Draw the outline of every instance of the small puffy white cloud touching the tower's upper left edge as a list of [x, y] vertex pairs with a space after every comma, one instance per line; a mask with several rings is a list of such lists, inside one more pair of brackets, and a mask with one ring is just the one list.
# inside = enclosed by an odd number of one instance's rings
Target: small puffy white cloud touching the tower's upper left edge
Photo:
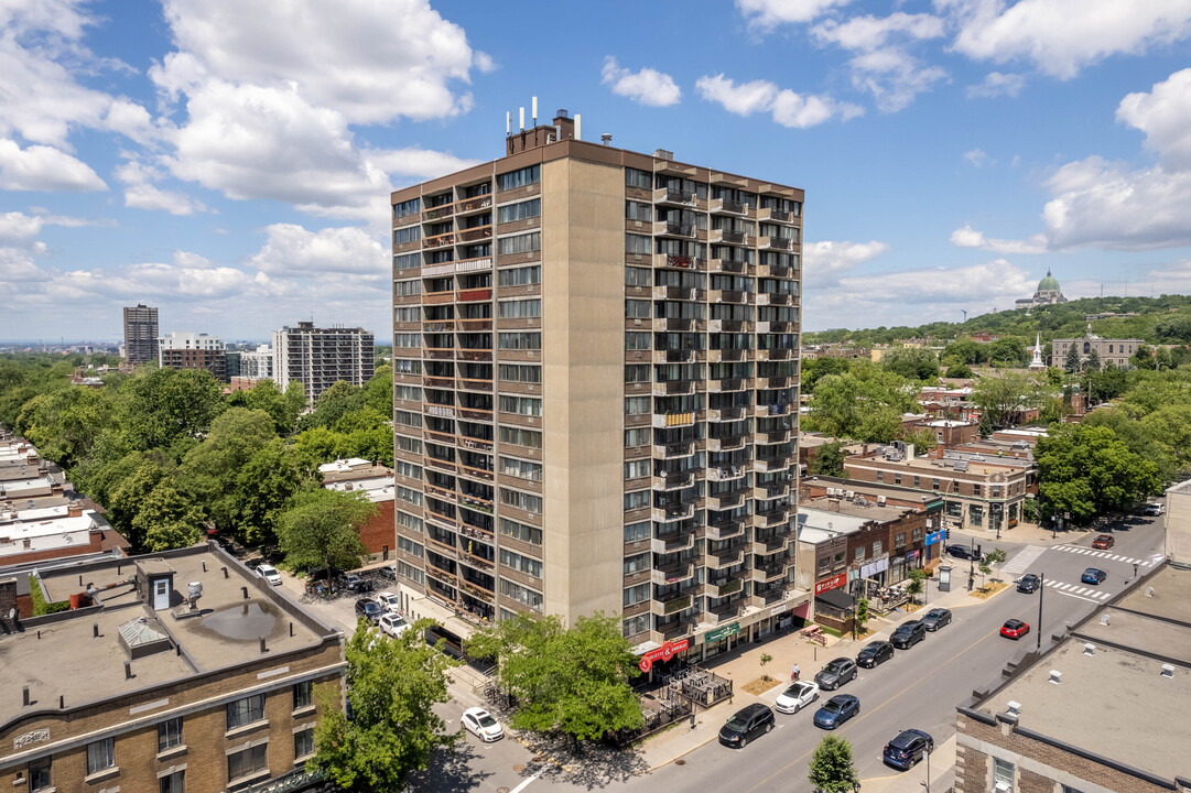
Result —
[[385, 274], [388, 258], [384, 248], [364, 231], [354, 227], [307, 231], [303, 226], [278, 223], [266, 231], [269, 239], [252, 256], [251, 264], [273, 275], [349, 273]]

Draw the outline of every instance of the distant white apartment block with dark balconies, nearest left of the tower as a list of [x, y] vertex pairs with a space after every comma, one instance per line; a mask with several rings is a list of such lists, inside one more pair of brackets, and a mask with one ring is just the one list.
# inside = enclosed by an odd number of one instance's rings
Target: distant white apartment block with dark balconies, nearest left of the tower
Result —
[[285, 389], [297, 380], [314, 401], [342, 380], [362, 386], [373, 376], [373, 335], [362, 327], [286, 325], [273, 333], [273, 379]]

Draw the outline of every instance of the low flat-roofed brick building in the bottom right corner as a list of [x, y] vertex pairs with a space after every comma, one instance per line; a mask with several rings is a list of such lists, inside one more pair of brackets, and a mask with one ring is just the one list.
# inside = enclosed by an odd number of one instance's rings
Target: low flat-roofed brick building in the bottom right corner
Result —
[[1161, 567], [958, 708], [955, 792], [1191, 789], [1187, 701], [1191, 572]]

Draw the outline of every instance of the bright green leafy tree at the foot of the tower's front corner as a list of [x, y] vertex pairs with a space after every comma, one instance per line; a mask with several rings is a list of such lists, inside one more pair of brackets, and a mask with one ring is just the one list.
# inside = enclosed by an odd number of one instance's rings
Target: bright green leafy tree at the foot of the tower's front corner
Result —
[[629, 687], [637, 658], [615, 617], [580, 617], [568, 630], [555, 614], [517, 614], [475, 633], [467, 650], [499, 660], [497, 679], [518, 701], [510, 720], [518, 730], [587, 741], [643, 723]]

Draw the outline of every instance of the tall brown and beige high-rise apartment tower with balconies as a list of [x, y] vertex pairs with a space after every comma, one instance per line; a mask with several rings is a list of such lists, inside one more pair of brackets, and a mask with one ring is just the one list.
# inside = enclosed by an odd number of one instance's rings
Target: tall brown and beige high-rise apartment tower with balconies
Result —
[[399, 582], [701, 657], [809, 608], [803, 191], [579, 137], [392, 194]]

